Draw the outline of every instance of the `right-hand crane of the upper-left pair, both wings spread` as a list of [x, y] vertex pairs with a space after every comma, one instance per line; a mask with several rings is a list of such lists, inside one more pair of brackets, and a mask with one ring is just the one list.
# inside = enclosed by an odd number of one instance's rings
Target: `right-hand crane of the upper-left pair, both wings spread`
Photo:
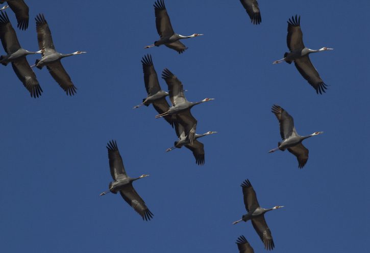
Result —
[[67, 93], [67, 95], [75, 95], [77, 88], [73, 85], [68, 73], [65, 71], [60, 60], [71, 55], [86, 53], [84, 51], [76, 51], [73, 53], [62, 54], [55, 50], [52, 33], [50, 32], [49, 25], [47, 24], [43, 14], [37, 15], [36, 31], [39, 49], [41, 50], [41, 60], [36, 60], [38, 69], [43, 66], [49, 70], [52, 77], [59, 83], [59, 86]]

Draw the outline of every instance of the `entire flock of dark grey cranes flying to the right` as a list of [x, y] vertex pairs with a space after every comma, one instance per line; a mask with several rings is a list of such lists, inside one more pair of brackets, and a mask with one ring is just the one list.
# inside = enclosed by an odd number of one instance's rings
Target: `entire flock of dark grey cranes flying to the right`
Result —
[[[8, 0], [0, 1], [0, 4], [7, 2], [8, 5], [0, 9], [0, 39], [2, 41], [6, 55], [1, 55], [0, 63], [7, 66], [11, 63], [14, 72], [24, 87], [30, 92], [31, 97], [39, 97], [42, 89], [37, 81], [36, 75], [32, 70], [33, 67], [42, 69], [46, 66], [52, 77], [58, 82], [60, 87], [67, 95], [74, 95], [76, 87], [73, 85], [69, 75], [61, 64], [61, 59], [71, 55], [86, 53], [84, 51], [76, 51], [69, 54], [61, 54], [56, 51], [50, 28], [46, 22], [43, 14], [37, 15], [36, 32], [39, 45], [39, 51], [28, 51], [23, 49], [17, 39], [15, 30], [10, 23], [8, 14], [5, 10], [10, 9], [15, 13], [17, 19], [17, 27], [20, 30], [27, 30], [29, 25], [29, 8], [23, 0]], [[253, 24], [260, 24], [261, 14], [256, 0], [240, 0], [242, 6], [251, 18]], [[154, 4], [157, 32], [160, 36], [159, 40], [154, 44], [145, 46], [144, 48], [151, 48], [154, 46], [165, 45], [178, 53], [183, 53], [187, 47], [180, 42], [180, 40], [202, 36], [203, 34], [192, 34], [190, 36], [183, 36], [174, 32], [171, 22], [164, 5], [163, 0], [157, 0]], [[316, 90], [316, 93], [323, 94], [326, 92], [327, 85], [320, 78], [317, 70], [312, 65], [309, 54], [314, 52], [321, 52], [332, 50], [332, 48], [323, 47], [317, 50], [305, 47], [303, 43], [303, 34], [300, 25], [300, 16], [292, 16], [288, 20], [288, 34], [287, 46], [289, 52], [284, 54], [284, 58], [275, 61], [273, 64], [286, 62], [291, 64], [294, 62], [295, 67], [301, 75], [308, 81], [308, 83]], [[30, 66], [26, 57], [28, 54], [41, 53], [41, 59], [36, 60], [35, 64]], [[156, 118], [164, 118], [172, 128], [175, 128], [178, 139], [173, 147], [166, 151], [171, 151], [176, 148], [185, 146], [192, 151], [196, 164], [203, 165], [205, 162], [204, 145], [198, 139], [200, 137], [216, 133], [209, 131], [204, 134], [196, 133], [196, 125], [198, 121], [192, 116], [191, 108], [197, 104], [208, 102], [213, 98], [205, 98], [198, 102], [189, 102], [184, 95], [186, 90], [183, 89], [181, 81], [170, 70], [164, 69], [162, 78], [167, 83], [168, 92], [161, 89], [157, 72], [153, 65], [153, 59], [150, 54], [144, 55], [141, 60], [144, 84], [146, 88], [147, 97], [142, 100], [142, 103], [136, 105], [138, 108], [142, 105], [149, 106], [150, 104], [157, 110]], [[171, 106], [166, 100], [169, 97]], [[280, 134], [282, 141], [278, 143], [278, 147], [269, 151], [269, 153], [277, 150], [285, 151], [286, 149], [297, 157], [299, 168], [303, 168], [308, 160], [308, 149], [302, 144], [302, 141], [311, 136], [318, 135], [323, 132], [314, 132], [310, 135], [301, 136], [297, 133], [294, 127], [293, 118], [279, 105], [273, 105], [272, 112], [277, 117], [280, 124]], [[113, 181], [109, 183], [107, 191], [101, 193], [105, 195], [109, 192], [116, 194], [120, 193], [122, 198], [134, 208], [136, 212], [145, 220], [153, 218], [153, 213], [147, 208], [145, 202], [133, 187], [135, 180], [145, 178], [149, 175], [141, 175], [137, 178], [131, 178], [126, 174], [122, 158], [118, 151], [118, 146], [115, 140], [111, 140], [107, 144], [110, 173]], [[236, 224], [240, 221], [251, 220], [254, 229], [260, 236], [264, 243], [265, 249], [272, 250], [275, 245], [270, 229], [264, 218], [264, 214], [271, 210], [282, 208], [283, 206], [275, 206], [273, 208], [265, 209], [260, 207], [256, 192], [249, 180], [245, 180], [242, 184], [242, 193], [246, 214], [241, 219], [235, 221]], [[237, 241], [239, 252], [251, 253], [254, 252], [251, 245], [244, 236], [240, 236]]]

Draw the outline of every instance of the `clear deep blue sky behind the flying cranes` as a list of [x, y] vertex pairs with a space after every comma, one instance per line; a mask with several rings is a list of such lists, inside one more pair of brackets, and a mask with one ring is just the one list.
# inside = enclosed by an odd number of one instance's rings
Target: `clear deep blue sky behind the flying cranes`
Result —
[[[34, 18], [43, 13], [78, 88], [66, 96], [46, 69], [35, 69], [43, 89], [31, 98], [12, 67], [0, 66], [0, 251], [16, 252], [237, 252], [244, 235], [255, 252], [263, 244], [246, 213], [240, 184], [250, 179], [275, 242], [274, 252], [365, 252], [370, 201], [370, 3], [260, 0], [262, 23], [251, 24], [238, 0], [166, 0], [175, 32], [203, 33], [184, 40], [178, 54], [158, 39], [154, 0], [26, 1], [23, 48], [38, 50]], [[7, 13], [14, 27], [13, 12]], [[287, 20], [301, 15], [304, 43], [333, 51], [311, 61], [329, 85], [317, 95], [294, 65], [272, 62], [286, 52]], [[146, 97], [140, 60], [151, 53], [158, 75], [168, 68], [195, 106], [205, 165], [186, 148], [166, 153], [175, 131], [155, 119]], [[1, 49], [1, 54], [4, 54]], [[34, 64], [39, 55], [30, 55]], [[163, 79], [160, 84], [167, 86]], [[305, 140], [306, 166], [285, 152], [270, 112], [279, 104], [294, 117]], [[145, 222], [108, 189], [106, 144], [116, 139], [134, 187], [154, 218]]]

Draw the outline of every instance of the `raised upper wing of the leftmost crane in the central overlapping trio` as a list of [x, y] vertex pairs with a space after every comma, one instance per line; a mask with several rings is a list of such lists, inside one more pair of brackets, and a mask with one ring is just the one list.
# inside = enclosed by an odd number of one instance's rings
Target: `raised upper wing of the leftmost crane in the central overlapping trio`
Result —
[[144, 55], [141, 63], [146, 93], [149, 96], [154, 95], [161, 90], [161, 87], [159, 86], [157, 72], [153, 66], [152, 55]]

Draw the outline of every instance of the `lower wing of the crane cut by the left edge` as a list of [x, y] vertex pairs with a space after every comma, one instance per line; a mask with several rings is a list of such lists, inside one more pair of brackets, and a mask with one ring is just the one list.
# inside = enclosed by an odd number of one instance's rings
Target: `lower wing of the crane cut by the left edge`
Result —
[[24, 87], [30, 92], [31, 97], [36, 98], [41, 96], [42, 89], [26, 57], [13, 61], [12, 67]]

